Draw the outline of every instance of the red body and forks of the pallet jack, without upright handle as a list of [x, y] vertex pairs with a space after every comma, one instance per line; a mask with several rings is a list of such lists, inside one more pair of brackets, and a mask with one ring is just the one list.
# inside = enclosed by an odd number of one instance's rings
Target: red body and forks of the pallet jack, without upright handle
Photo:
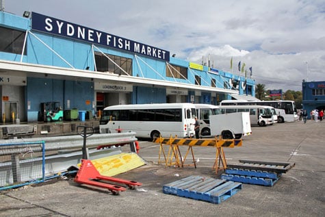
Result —
[[120, 192], [124, 192], [125, 190], [127, 190], [122, 186], [117, 186], [112, 183], [104, 183], [102, 181], [110, 181], [114, 183], [124, 184], [130, 189], [135, 189], [136, 186], [142, 186], [142, 183], [138, 181], [129, 181], [125, 179], [103, 176], [99, 173], [98, 170], [96, 170], [94, 164], [92, 164], [90, 159], [81, 159], [81, 166], [75, 177], [75, 182], [88, 186], [107, 188], [107, 190], [110, 190], [114, 195], [118, 195], [120, 194]]

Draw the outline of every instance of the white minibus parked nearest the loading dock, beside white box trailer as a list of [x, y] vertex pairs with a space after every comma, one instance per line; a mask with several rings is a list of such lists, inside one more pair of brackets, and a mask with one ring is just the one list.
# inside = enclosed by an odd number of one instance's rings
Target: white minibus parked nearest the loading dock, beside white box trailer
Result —
[[135, 131], [140, 138], [187, 138], [195, 135], [195, 116], [192, 103], [112, 105], [103, 110], [99, 131]]

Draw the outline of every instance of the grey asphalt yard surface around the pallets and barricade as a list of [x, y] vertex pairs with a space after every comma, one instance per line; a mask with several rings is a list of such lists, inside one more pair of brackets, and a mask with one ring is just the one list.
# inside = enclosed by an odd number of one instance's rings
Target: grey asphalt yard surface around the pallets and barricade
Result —
[[[69, 177], [0, 192], [0, 216], [324, 216], [325, 121], [252, 127], [242, 146], [224, 148], [229, 164], [239, 159], [294, 163], [272, 187], [243, 184], [220, 204], [164, 194], [162, 187], [190, 175], [220, 179], [216, 148], [194, 147], [194, 166], [158, 164], [159, 145], [140, 141], [148, 164], [117, 177], [142, 186], [119, 195], [80, 186]], [[124, 147], [125, 151], [127, 147]], [[181, 146], [181, 153], [187, 147]], [[185, 164], [192, 164], [188, 157]]]

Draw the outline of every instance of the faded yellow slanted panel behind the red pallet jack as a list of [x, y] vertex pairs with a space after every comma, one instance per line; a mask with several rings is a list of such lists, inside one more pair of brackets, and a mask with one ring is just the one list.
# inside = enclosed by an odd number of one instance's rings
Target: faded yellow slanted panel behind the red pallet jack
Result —
[[109, 157], [92, 159], [92, 164], [101, 175], [112, 177], [146, 164], [136, 153], [120, 153]]

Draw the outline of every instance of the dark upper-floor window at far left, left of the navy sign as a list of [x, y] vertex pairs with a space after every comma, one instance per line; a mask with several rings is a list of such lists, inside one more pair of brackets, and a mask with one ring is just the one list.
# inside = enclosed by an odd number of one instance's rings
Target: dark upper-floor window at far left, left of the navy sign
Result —
[[[25, 34], [25, 31], [0, 27], [0, 51], [21, 54], [23, 52]], [[27, 46], [25, 46], [24, 55], [26, 55], [26, 51]]]

